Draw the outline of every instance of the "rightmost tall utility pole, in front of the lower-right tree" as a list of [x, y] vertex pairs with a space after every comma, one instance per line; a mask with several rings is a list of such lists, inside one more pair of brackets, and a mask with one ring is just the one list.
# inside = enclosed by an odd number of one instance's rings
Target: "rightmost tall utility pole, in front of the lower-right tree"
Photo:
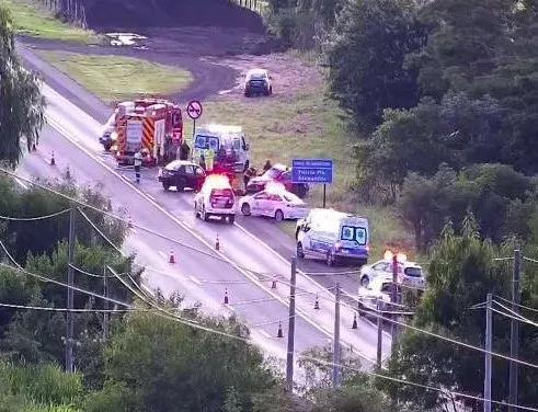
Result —
[[[519, 313], [519, 301], [522, 300], [522, 290], [519, 282], [522, 277], [522, 252], [516, 249], [514, 251], [514, 273], [512, 278], [512, 310]], [[510, 324], [510, 357], [517, 359], [519, 350], [519, 322], [512, 318]], [[514, 360], [510, 362], [510, 393], [508, 403], [517, 404], [517, 375], [518, 367]], [[517, 408], [508, 407], [508, 412], [516, 412]]]

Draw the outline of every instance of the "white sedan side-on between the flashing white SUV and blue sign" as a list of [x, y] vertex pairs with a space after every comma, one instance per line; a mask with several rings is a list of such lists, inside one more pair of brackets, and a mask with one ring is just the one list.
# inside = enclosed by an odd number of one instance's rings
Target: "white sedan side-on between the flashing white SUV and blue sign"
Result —
[[244, 196], [240, 202], [244, 216], [268, 216], [278, 221], [285, 219], [302, 219], [307, 213], [307, 204], [287, 191], [262, 191]]

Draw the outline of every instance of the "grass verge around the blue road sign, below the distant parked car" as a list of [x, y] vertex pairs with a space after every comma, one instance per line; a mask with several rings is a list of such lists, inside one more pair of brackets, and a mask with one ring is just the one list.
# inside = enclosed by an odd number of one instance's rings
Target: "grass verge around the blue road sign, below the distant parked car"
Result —
[[[294, 158], [333, 159], [334, 184], [327, 187], [327, 206], [368, 218], [373, 260], [380, 259], [387, 248], [414, 255], [412, 233], [403, 228], [397, 214], [387, 207], [362, 205], [350, 190], [355, 180], [353, 136], [347, 131], [342, 112], [323, 93], [312, 90], [290, 99], [238, 99], [232, 104], [208, 102], [204, 106], [203, 123], [206, 122], [242, 126], [255, 165], [262, 165], [265, 159], [286, 164]], [[321, 206], [322, 193], [322, 186], [311, 187], [309, 203]], [[279, 226], [294, 237], [295, 222]]]

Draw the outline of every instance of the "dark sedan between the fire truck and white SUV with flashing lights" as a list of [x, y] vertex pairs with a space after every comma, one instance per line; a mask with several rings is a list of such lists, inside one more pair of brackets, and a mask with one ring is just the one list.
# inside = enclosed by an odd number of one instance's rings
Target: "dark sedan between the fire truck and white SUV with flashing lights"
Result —
[[160, 169], [158, 176], [165, 191], [175, 186], [178, 192], [182, 192], [184, 188], [199, 191], [205, 178], [204, 169], [187, 160], [174, 160]]

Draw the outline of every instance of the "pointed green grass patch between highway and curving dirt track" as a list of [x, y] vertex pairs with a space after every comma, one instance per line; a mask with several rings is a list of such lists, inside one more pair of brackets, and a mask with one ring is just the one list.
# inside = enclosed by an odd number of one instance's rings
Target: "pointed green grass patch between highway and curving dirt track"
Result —
[[131, 57], [36, 53], [107, 104], [148, 94], [173, 94], [193, 80], [184, 69]]

